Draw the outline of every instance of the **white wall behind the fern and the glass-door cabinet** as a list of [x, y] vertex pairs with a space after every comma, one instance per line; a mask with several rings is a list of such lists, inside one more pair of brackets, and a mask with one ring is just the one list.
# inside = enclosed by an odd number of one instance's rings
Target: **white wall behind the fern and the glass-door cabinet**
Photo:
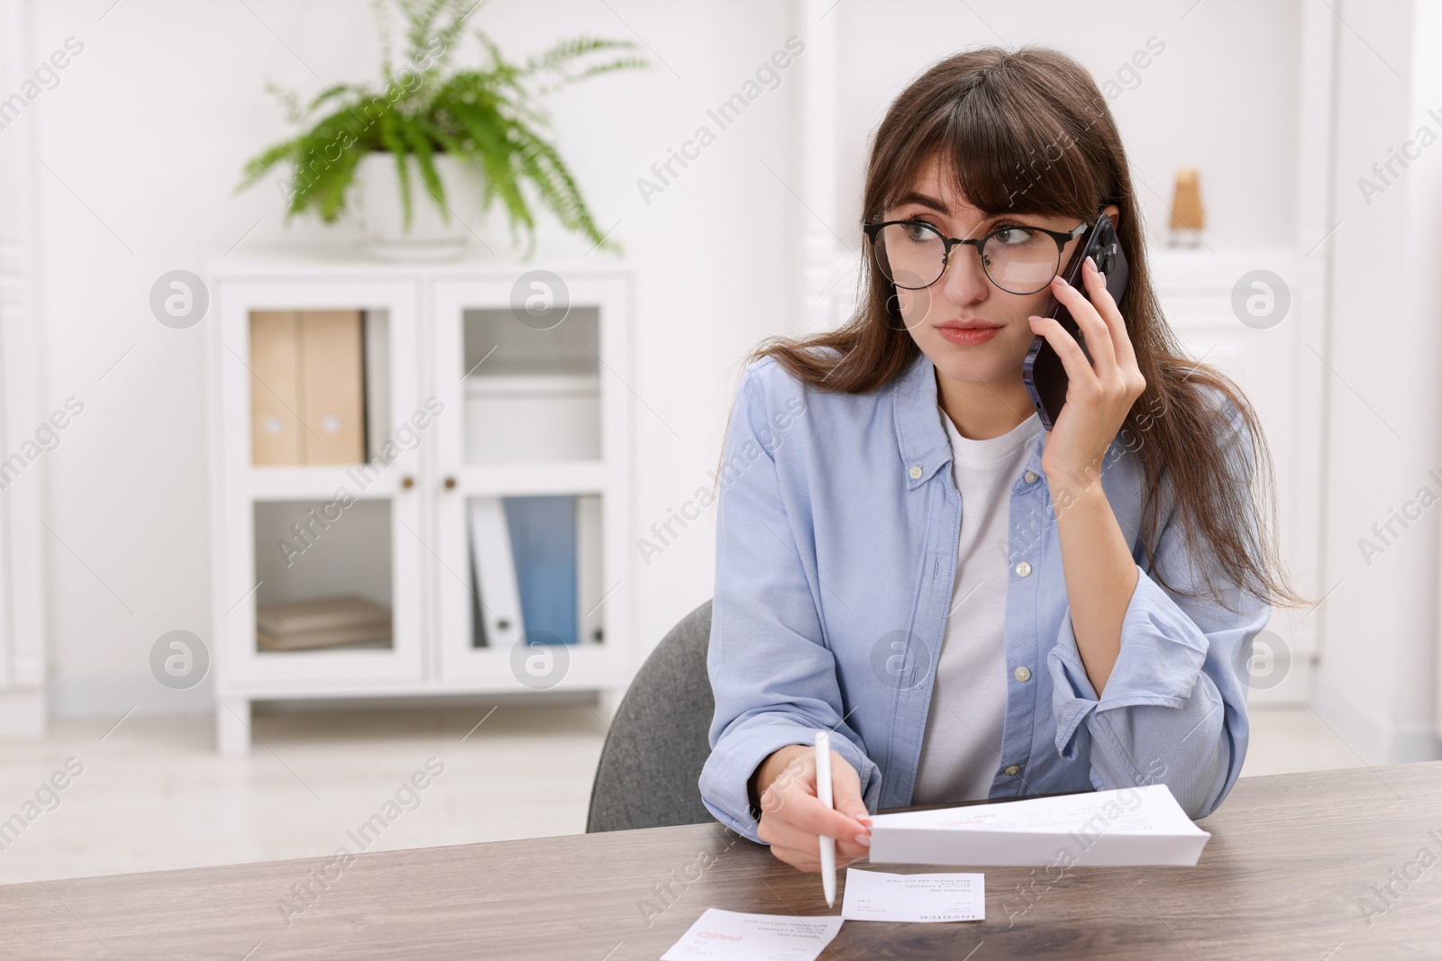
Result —
[[[278, 192], [264, 184], [239, 196], [232, 187], [241, 161], [287, 133], [264, 81], [303, 94], [365, 81], [378, 49], [369, 4], [358, 0], [254, 0], [254, 14], [232, 3], [107, 6], [33, 4], [36, 63], [69, 36], [85, 48], [20, 121], [35, 125], [39, 160], [53, 170], [39, 174], [43, 406], [71, 395], [87, 405], [45, 461], [56, 535], [45, 558], [52, 690], [62, 713], [144, 707], [154, 638], [174, 628], [203, 637], [208, 624], [203, 330], [156, 323], [149, 287], [169, 269], [202, 271], [252, 226], [245, 246], [349, 241], [310, 222], [287, 228]], [[789, 79], [650, 205], [636, 179], [792, 27], [787, 7], [771, 3], [712, 3], [684, 17], [663, 4], [616, 9], [624, 22], [584, 1], [549, 3], [538, 17], [535, 4], [497, 0], [477, 16], [516, 56], [559, 36], [633, 36], [627, 24], [659, 55], [646, 73], [601, 78], [552, 102], [562, 154], [597, 219], [622, 222], [616, 236], [637, 269], [632, 386], [665, 418], [645, 408], [637, 416], [645, 529], [707, 483], [735, 362], [787, 326], [795, 213], [760, 158], [790, 176]], [[711, 552], [709, 533], [692, 527], [643, 571], [645, 637], [659, 638], [709, 596]]]

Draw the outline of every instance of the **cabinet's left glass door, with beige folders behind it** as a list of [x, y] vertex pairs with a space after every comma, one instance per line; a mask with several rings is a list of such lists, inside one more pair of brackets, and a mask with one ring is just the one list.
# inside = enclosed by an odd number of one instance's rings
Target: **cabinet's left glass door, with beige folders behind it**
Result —
[[423, 676], [415, 291], [221, 288], [218, 634], [249, 693]]

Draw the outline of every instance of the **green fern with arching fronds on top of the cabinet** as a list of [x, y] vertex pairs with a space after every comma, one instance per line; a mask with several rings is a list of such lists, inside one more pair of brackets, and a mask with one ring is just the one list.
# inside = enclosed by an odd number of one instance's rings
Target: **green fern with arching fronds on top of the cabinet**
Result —
[[[549, 117], [541, 98], [568, 84], [600, 73], [646, 68], [629, 40], [572, 37], [531, 56], [508, 61], [480, 29], [485, 62], [476, 69], [451, 69], [474, 0], [394, 0], [405, 20], [405, 56], [391, 58], [391, 6], [375, 0], [381, 27], [379, 88], [337, 84], [304, 107], [287, 91], [267, 85], [303, 133], [267, 147], [245, 163], [236, 190], [260, 182], [278, 164], [291, 170], [283, 184], [287, 219], [311, 212], [335, 223], [346, 206], [356, 169], [366, 154], [395, 157], [405, 229], [411, 226], [417, 183], [450, 222], [446, 187], [435, 169], [438, 154], [451, 154], [474, 167], [485, 183], [483, 209], [499, 199], [510, 223], [512, 242], [523, 229], [528, 255], [535, 246], [535, 215], [528, 193], [568, 231], [597, 248], [620, 252], [620, 245], [596, 226], [555, 144], [547, 135]], [[412, 177], [415, 183], [412, 183]]]

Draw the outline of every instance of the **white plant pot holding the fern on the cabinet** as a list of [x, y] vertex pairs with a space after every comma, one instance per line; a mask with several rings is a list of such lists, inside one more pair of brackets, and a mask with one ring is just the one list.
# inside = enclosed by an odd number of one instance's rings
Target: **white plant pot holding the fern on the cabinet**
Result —
[[[421, 167], [414, 156], [405, 157], [411, 169], [411, 225], [405, 226], [401, 206], [401, 179], [395, 154], [368, 154], [356, 167], [356, 218], [362, 246], [386, 261], [448, 261], [460, 256], [482, 233], [480, 174], [450, 154], [435, 154], [435, 173], [446, 189], [448, 222], [435, 197], [421, 183]], [[482, 241], [490, 249], [495, 242]]]

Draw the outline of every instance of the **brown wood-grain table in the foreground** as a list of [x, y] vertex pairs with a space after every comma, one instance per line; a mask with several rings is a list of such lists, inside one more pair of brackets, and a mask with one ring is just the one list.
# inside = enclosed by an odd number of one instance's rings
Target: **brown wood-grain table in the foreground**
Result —
[[[1195, 867], [988, 867], [985, 922], [846, 922], [822, 958], [1442, 958], [1442, 762], [1246, 778], [1201, 826]], [[653, 960], [711, 906], [831, 913], [714, 823], [330, 862], [4, 886], [0, 957]]]

